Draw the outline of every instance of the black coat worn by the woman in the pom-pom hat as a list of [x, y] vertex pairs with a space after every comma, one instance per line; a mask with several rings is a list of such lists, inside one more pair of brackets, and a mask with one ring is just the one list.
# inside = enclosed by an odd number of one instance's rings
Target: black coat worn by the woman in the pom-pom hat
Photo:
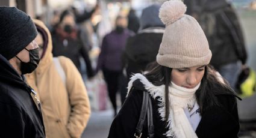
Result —
[[[120, 112], [111, 124], [108, 135], [109, 138], [134, 137], [142, 106], [143, 91], [146, 91], [145, 87], [148, 87], [148, 89], [151, 88], [151, 86], [145, 85], [140, 81], [140, 79], [137, 79], [133, 83], [130, 83], [133, 84], [133, 87], [122, 109], [120, 109]], [[196, 129], [196, 135], [199, 138], [237, 137], [240, 125], [236, 98], [233, 95], [226, 94], [216, 95], [216, 97], [221, 106], [212, 106], [205, 110]], [[158, 112], [160, 108], [158, 105], [161, 101], [160, 97], [152, 98], [151, 95], [151, 101], [153, 108], [154, 137], [166, 137], [163, 134], [167, 132], [168, 128], [164, 127], [165, 122], [162, 121], [163, 118], [161, 118]], [[147, 129], [147, 124], [145, 123], [142, 137], [147, 137]]]

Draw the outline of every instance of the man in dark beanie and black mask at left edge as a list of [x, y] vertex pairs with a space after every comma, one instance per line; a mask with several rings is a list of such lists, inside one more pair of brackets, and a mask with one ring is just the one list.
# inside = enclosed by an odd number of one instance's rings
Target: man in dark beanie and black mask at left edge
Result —
[[40, 61], [36, 27], [14, 7], [0, 7], [0, 20], [0, 137], [45, 137], [40, 101], [23, 76]]

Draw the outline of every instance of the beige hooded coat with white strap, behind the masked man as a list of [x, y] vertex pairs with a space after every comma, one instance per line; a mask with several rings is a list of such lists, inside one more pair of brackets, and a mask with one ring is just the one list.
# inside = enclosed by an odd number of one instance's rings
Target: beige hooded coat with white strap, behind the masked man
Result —
[[83, 79], [73, 62], [60, 56], [58, 59], [66, 74], [65, 86], [52, 60], [51, 35], [42, 22], [34, 22], [47, 32], [48, 47], [39, 67], [26, 77], [42, 103], [46, 137], [81, 137], [90, 116], [90, 103]]

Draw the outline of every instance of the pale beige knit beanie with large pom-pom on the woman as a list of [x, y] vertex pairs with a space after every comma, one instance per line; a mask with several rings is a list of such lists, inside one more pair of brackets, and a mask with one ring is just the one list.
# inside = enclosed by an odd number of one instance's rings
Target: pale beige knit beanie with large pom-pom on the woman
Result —
[[169, 68], [207, 65], [211, 60], [207, 38], [192, 16], [184, 14], [186, 5], [179, 0], [161, 5], [159, 17], [166, 25], [157, 62]]

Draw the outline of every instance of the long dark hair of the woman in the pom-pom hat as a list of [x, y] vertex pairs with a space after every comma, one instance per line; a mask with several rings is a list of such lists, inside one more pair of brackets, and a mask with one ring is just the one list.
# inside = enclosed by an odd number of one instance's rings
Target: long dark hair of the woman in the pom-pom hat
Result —
[[[169, 89], [170, 86], [170, 78], [172, 68], [164, 67], [163, 65], [157, 64], [154, 62], [150, 67], [146, 69], [148, 73], [145, 74], [145, 77], [155, 86], [165, 85], [165, 121], [167, 124], [167, 120], [169, 118]], [[205, 66], [205, 73], [201, 80], [201, 85], [196, 91], [196, 101], [200, 107], [201, 115], [204, 113], [208, 107], [211, 106], [219, 106], [217, 101], [217, 94], [231, 94], [235, 95], [236, 93], [233, 89], [228, 85], [225, 79], [223, 79], [224, 83], [220, 82], [216, 73], [213, 70], [213, 67], [210, 65]]]

